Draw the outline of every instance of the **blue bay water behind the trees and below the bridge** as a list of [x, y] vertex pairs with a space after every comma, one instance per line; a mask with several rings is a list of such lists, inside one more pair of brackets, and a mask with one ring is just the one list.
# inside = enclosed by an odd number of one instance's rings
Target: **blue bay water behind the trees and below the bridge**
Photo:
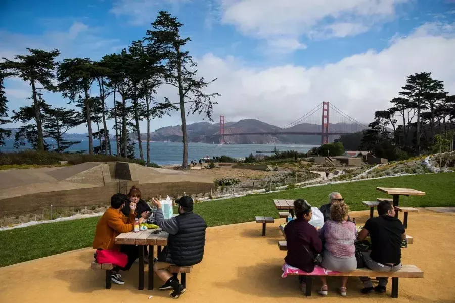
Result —
[[[0, 151], [16, 151], [17, 149], [13, 147], [14, 140], [5, 140], [6, 145], [0, 147]], [[47, 140], [47, 143], [51, 141]], [[99, 146], [98, 141], [93, 141], [94, 146]], [[52, 143], [51, 143], [52, 144]], [[115, 141], [111, 142], [112, 152], [116, 152]], [[274, 146], [278, 150], [296, 150], [302, 153], [310, 150], [316, 145], [272, 145], [272, 144], [224, 144], [222, 146], [217, 146], [217, 144], [206, 144], [206, 143], [188, 143], [188, 161], [196, 160], [204, 157], [216, 157], [216, 156], [229, 156], [233, 158], [244, 158], [247, 157], [250, 153], [256, 154], [256, 151], [273, 151]], [[317, 147], [317, 146], [316, 146]], [[30, 146], [22, 146], [19, 150], [30, 148]], [[142, 142], [144, 159], [146, 157], [147, 151], [147, 142]], [[79, 144], [75, 144], [68, 148], [66, 151], [78, 151], [78, 150], [88, 150], [88, 141], [82, 141]], [[139, 148], [136, 145], [135, 155], [139, 158]], [[270, 155], [270, 154], [264, 154]], [[151, 162], [154, 162], [158, 165], [171, 165], [171, 164], [181, 164], [181, 159], [183, 157], [183, 144], [174, 143], [174, 142], [150, 142], [150, 159]]]

